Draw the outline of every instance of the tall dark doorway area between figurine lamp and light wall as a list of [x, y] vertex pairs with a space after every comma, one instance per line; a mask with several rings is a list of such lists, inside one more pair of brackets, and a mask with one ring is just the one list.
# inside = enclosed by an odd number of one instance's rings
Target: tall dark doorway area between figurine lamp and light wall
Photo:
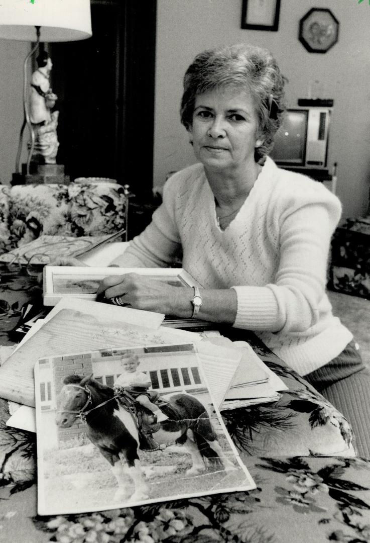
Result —
[[156, 2], [91, 0], [93, 36], [50, 43], [60, 111], [57, 160], [71, 179], [152, 188]]

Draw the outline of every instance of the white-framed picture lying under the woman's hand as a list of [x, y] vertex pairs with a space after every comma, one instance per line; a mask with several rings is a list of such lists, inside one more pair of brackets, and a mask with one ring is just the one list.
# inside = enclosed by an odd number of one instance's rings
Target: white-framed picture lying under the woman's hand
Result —
[[201, 286], [182, 268], [92, 268], [45, 266], [43, 269], [43, 303], [54, 306], [63, 298], [95, 300], [101, 280], [108, 275], [138, 273], [176, 287]]

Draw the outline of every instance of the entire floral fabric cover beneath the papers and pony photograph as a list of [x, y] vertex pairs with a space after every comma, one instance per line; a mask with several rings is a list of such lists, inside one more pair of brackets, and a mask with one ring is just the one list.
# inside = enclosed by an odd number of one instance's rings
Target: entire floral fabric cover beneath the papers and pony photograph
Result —
[[[41, 287], [24, 269], [0, 272], [0, 345], [11, 345], [22, 305], [40, 306]], [[369, 542], [370, 460], [355, 457], [348, 422], [253, 334], [233, 333], [289, 387], [278, 402], [224, 413], [256, 490], [37, 516], [35, 434], [7, 426], [8, 402], [0, 399], [0, 541]]]

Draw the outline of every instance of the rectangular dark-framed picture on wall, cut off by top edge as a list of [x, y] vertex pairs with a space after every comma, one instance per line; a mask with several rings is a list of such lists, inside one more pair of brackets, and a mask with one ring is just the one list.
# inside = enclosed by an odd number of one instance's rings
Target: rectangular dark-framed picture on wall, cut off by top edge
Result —
[[280, 0], [243, 0], [241, 28], [276, 32], [279, 12]]

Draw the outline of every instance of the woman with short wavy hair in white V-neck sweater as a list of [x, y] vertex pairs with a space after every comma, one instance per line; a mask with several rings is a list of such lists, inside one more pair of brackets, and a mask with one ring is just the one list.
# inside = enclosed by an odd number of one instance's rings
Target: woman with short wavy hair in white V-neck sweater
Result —
[[[104, 279], [99, 293], [253, 330], [345, 414], [347, 401], [359, 421], [367, 410], [369, 423], [370, 376], [325, 292], [340, 201], [267, 156], [282, 121], [283, 83], [264, 49], [238, 45], [196, 56], [184, 76], [181, 121], [199, 162], [171, 176], [151, 224], [113, 264], [168, 267], [182, 254], [203, 288], [127, 274]], [[362, 452], [370, 456], [370, 439]]]

